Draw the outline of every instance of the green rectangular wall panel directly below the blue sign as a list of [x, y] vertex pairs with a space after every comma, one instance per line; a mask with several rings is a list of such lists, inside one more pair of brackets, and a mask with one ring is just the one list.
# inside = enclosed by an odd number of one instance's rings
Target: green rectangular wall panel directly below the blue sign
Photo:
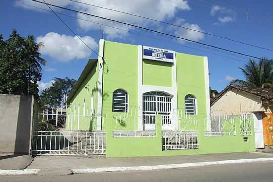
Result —
[[143, 60], [142, 83], [143, 85], [172, 87], [172, 72], [172, 63]]

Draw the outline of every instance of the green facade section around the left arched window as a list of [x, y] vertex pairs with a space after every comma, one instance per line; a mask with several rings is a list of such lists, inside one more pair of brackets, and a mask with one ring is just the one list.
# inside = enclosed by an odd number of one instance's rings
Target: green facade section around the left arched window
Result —
[[[114, 124], [114, 129], [134, 130], [137, 126], [132, 112], [122, 121], [115, 119], [121, 113], [112, 112], [112, 94], [119, 88], [129, 93], [129, 108], [137, 108], [137, 49], [136, 45], [104, 42], [102, 114]], [[106, 128], [106, 122], [102, 128]]]

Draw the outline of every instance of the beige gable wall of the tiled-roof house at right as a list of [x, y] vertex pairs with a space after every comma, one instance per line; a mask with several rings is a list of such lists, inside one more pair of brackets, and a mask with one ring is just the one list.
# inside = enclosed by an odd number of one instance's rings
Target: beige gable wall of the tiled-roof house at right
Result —
[[238, 115], [261, 110], [265, 111], [259, 97], [237, 90], [227, 91], [211, 106], [212, 113], [228, 115]]

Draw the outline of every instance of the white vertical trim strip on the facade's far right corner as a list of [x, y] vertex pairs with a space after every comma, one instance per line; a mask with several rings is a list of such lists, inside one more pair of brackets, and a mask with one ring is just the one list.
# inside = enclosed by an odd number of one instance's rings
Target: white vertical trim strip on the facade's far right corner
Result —
[[204, 73], [205, 73], [205, 102], [206, 102], [206, 130], [211, 131], [210, 127], [210, 97], [209, 97], [209, 75], [207, 57], [204, 57]]

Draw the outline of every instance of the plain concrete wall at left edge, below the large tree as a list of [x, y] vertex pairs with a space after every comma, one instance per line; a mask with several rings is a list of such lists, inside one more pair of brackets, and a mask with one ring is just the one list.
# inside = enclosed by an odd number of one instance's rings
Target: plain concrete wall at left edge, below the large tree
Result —
[[0, 153], [29, 153], [33, 96], [0, 94]]

